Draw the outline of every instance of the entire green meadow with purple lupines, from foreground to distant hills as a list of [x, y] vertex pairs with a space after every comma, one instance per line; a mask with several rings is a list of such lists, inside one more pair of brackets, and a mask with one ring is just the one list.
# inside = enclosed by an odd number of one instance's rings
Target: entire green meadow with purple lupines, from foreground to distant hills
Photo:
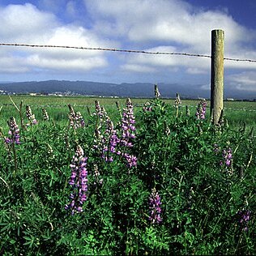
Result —
[[256, 254], [255, 102], [0, 102], [0, 254]]

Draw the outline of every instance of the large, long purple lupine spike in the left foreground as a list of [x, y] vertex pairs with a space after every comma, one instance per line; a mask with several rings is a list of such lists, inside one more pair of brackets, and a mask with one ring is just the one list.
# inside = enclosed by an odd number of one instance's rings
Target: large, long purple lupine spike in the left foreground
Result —
[[71, 202], [65, 209], [71, 210], [71, 214], [83, 211], [83, 203], [87, 199], [87, 157], [83, 156], [83, 148], [78, 146], [70, 164], [71, 175], [69, 184], [73, 192], [70, 193]]

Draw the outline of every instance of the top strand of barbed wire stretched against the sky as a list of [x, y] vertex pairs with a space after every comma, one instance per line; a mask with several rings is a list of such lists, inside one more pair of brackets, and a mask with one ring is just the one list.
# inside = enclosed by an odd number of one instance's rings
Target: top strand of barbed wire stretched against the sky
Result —
[[[29, 44], [13, 44], [13, 43], [0, 43], [0, 46], [17, 46], [17, 47], [32, 47], [32, 48], [62, 48], [62, 49], [84, 49], [84, 50], [100, 50], [110, 52], [121, 53], [144, 53], [154, 55], [181, 55], [186, 57], [199, 57], [199, 58], [211, 58], [211, 55], [197, 54], [197, 53], [171, 53], [171, 52], [154, 52], [139, 49], [113, 49], [113, 48], [101, 48], [101, 47], [83, 47], [83, 46], [67, 46], [67, 45], [29, 45]], [[247, 58], [224, 58], [226, 61], [233, 62], [256, 62], [254, 59]]]

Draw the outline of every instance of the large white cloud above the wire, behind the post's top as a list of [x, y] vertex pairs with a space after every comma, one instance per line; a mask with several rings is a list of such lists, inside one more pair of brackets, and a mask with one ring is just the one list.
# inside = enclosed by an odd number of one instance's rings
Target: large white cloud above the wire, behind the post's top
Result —
[[[226, 30], [227, 41], [247, 41], [251, 35], [231, 16], [220, 11], [200, 11], [181, 0], [84, 0], [96, 16], [101, 31], [113, 26], [113, 33], [131, 41], [168, 41], [203, 45], [208, 49], [212, 29]], [[92, 16], [93, 17], [93, 16]], [[114, 24], [114, 25], [113, 25]], [[108, 30], [107, 30], [108, 31]]]

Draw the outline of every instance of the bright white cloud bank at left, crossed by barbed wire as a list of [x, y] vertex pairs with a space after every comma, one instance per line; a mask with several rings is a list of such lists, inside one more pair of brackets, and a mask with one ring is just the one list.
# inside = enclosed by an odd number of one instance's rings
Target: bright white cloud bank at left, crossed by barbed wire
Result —
[[[109, 47], [112, 43], [81, 26], [59, 23], [54, 15], [28, 3], [0, 7], [0, 23], [2, 42], [87, 47]], [[65, 73], [69, 69], [86, 71], [108, 65], [106, 54], [96, 50], [9, 47], [1, 49], [1, 54], [1, 72], [44, 68]]]

